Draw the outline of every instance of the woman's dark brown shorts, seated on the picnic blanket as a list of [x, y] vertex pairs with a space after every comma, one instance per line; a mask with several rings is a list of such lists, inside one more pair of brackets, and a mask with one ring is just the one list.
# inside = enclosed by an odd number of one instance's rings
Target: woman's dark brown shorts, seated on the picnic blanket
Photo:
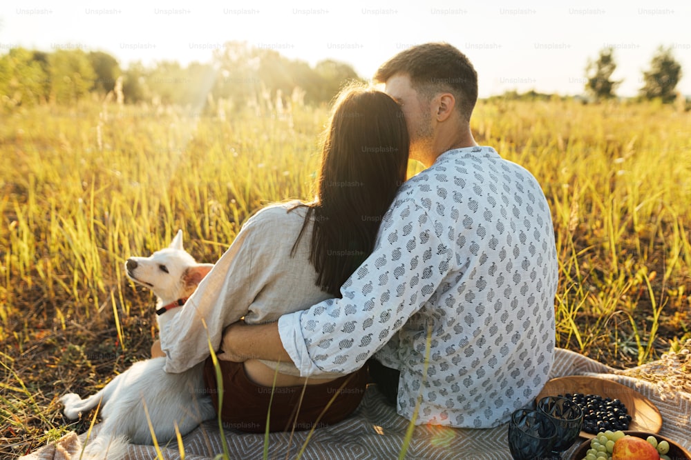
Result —
[[[310, 430], [313, 426], [337, 423], [357, 408], [368, 380], [367, 370], [362, 368], [326, 383], [271, 388], [249, 380], [243, 363], [218, 363], [223, 376], [221, 418], [227, 427], [245, 432], [265, 432], [272, 392], [271, 432]], [[204, 380], [218, 411], [216, 371], [211, 358], [204, 366]]]

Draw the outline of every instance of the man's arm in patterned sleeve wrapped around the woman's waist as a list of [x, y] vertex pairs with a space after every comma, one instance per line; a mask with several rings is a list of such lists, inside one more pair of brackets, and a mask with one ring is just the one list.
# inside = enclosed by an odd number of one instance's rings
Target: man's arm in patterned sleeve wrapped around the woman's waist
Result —
[[361, 368], [433, 295], [453, 265], [453, 238], [444, 243], [442, 234], [448, 229], [435, 226], [425, 208], [397, 201], [382, 221], [377, 248], [341, 286], [341, 299], [283, 314], [261, 329], [240, 326], [242, 335], [229, 330], [223, 349], [239, 361], [290, 357], [302, 377]]

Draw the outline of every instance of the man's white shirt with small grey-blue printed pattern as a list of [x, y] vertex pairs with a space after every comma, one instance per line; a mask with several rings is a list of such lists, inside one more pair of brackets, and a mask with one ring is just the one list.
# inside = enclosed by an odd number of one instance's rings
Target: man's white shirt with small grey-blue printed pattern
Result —
[[400, 370], [397, 412], [491, 428], [542, 389], [558, 262], [545, 195], [493, 148], [440, 155], [401, 186], [374, 252], [328, 299], [278, 320], [301, 375]]

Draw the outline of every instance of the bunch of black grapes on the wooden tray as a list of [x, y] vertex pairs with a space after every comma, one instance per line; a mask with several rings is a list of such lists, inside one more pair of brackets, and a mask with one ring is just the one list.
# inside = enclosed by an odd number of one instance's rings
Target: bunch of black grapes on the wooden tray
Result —
[[587, 433], [596, 434], [605, 430], [629, 428], [631, 416], [626, 406], [618, 399], [582, 393], [567, 393], [563, 396], [574, 401], [583, 410], [583, 431]]

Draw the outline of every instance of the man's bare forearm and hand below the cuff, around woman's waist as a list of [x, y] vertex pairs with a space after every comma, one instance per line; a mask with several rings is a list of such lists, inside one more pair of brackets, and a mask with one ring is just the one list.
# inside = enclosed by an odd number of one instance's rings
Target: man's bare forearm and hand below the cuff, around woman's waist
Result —
[[218, 359], [243, 363], [248, 359], [269, 361], [292, 360], [278, 335], [278, 323], [248, 326], [245, 321], [233, 323], [223, 331]]

